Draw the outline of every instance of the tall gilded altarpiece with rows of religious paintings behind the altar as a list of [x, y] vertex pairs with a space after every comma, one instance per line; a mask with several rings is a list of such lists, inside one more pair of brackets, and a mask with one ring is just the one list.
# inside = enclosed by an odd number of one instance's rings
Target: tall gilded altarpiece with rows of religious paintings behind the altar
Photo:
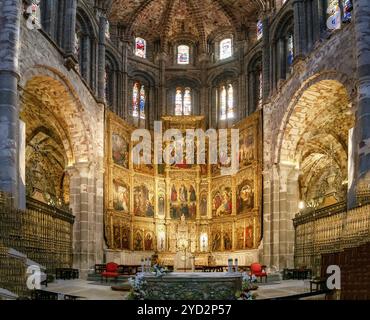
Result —
[[[212, 264], [213, 253], [258, 248], [262, 219], [260, 119], [255, 113], [235, 125], [240, 136], [240, 170], [233, 176], [222, 176], [220, 163], [208, 163], [208, 151], [206, 164], [186, 163], [184, 154], [184, 161], [177, 165], [134, 166], [130, 159], [134, 128], [108, 113], [108, 249], [131, 251], [135, 257], [157, 252], [162, 263], [176, 267], [177, 260], [184, 261], [184, 254], [193, 257], [196, 264]], [[184, 137], [186, 129], [205, 129], [203, 116], [168, 116], [162, 123], [163, 132], [180, 129]], [[167, 145], [163, 142], [163, 148]], [[195, 160], [197, 152], [195, 147]]]

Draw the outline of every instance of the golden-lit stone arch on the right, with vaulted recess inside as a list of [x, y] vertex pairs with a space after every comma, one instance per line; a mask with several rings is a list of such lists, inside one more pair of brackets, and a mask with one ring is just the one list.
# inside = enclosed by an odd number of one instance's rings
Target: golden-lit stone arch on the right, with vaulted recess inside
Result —
[[354, 116], [341, 82], [323, 76], [315, 80], [304, 85], [288, 107], [276, 163], [284, 168], [283, 176], [295, 175], [280, 186], [292, 196], [291, 202], [323, 207], [346, 199], [348, 130]]

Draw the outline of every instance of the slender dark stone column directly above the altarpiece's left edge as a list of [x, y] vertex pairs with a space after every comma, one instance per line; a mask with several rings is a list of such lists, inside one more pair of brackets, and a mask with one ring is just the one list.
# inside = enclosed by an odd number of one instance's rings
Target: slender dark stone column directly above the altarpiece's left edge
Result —
[[98, 101], [105, 102], [105, 33], [107, 18], [104, 14], [99, 17], [99, 46], [98, 46]]

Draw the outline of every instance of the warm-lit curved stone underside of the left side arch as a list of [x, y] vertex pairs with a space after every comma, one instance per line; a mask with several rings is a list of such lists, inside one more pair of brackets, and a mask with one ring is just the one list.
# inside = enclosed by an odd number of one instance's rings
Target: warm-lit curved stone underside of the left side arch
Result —
[[92, 134], [87, 125], [89, 119], [67, 79], [52, 68], [36, 65], [22, 75], [19, 85], [22, 88], [21, 115], [27, 112], [29, 103], [30, 111], [35, 111], [44, 120], [48, 119], [48, 125], [59, 135], [68, 165], [87, 161], [94, 149], [91, 145], [94, 140], [89, 137]]

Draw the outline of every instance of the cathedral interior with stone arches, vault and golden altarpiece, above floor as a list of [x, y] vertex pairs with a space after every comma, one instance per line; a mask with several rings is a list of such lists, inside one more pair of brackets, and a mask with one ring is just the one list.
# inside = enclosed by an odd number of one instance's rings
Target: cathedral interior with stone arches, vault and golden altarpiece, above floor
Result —
[[[368, 0], [1, 1], [0, 289], [27, 295], [22, 257], [91, 279], [155, 256], [339, 265], [341, 298], [370, 299], [345, 274], [370, 270], [369, 29]], [[238, 147], [156, 162], [158, 122]]]

